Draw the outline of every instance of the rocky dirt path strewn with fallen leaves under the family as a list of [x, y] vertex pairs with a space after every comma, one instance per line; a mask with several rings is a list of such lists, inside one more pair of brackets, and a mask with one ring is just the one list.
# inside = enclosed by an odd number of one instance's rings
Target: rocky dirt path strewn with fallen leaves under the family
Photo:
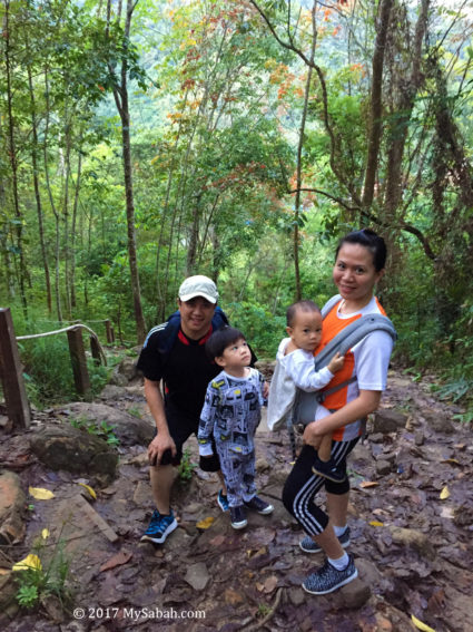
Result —
[[[76, 419], [137, 425], [121, 444], [115, 479], [91, 469], [55, 471], [32, 454], [26, 439], [41, 426], [61, 427], [72, 410]], [[38, 415], [27, 435], [0, 435], [3, 509], [9, 502], [30, 507], [24, 531], [11, 516], [7, 531], [4, 522], [0, 528], [0, 629], [403, 632], [416, 630], [414, 615], [435, 632], [471, 632], [473, 446], [471, 428], [452, 420], [455, 412], [435, 400], [428, 380], [391, 375], [383, 410], [351, 459], [351, 552], [359, 577], [318, 597], [300, 582], [323, 557], [300, 551], [303, 533], [279, 500], [290, 469], [285, 434], [263, 425], [257, 435], [258, 485], [275, 505], [273, 515], [250, 515], [248, 527], [235, 532], [216, 504], [217, 482], [196, 468], [189, 480], [176, 480], [179, 528], [155, 547], [139, 543], [152, 512], [140, 386], [108, 387], [101, 402]], [[134, 436], [141, 445], [130, 445]], [[189, 447], [190, 461], [197, 460], [194, 441]], [[92, 486], [97, 499], [78, 483]], [[21, 497], [29, 486], [55, 497]], [[58, 539], [66, 542], [73, 591], [68, 613], [55, 599], [31, 614], [12, 601], [11, 564], [32, 551], [45, 528], [46, 557]]]

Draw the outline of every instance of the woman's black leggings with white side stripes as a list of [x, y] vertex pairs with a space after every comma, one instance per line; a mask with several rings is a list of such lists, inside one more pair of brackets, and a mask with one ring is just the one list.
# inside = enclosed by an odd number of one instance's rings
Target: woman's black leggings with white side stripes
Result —
[[[358, 437], [351, 441], [333, 441], [332, 458], [346, 473], [346, 457], [358, 443]], [[309, 535], [318, 535], [328, 524], [328, 516], [314, 503], [315, 495], [325, 485], [329, 494], [342, 495], [349, 490], [348, 477], [343, 483], [333, 483], [314, 474], [315, 448], [304, 446], [283, 489], [283, 503], [286, 509]]]

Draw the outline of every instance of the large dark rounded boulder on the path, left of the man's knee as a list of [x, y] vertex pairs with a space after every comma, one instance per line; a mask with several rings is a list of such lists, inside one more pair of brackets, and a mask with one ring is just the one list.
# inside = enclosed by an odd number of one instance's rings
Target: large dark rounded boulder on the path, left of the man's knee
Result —
[[33, 432], [30, 447], [50, 469], [111, 479], [118, 464], [117, 453], [104, 439], [66, 424]]

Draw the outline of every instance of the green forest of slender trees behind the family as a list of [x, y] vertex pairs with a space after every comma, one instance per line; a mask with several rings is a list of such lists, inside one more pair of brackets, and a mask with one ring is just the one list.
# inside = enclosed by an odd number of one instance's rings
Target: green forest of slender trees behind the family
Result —
[[472, 2], [2, 0], [0, 304], [17, 333], [141, 342], [193, 273], [260, 354], [332, 293], [337, 239], [390, 250], [413, 372], [473, 380]]

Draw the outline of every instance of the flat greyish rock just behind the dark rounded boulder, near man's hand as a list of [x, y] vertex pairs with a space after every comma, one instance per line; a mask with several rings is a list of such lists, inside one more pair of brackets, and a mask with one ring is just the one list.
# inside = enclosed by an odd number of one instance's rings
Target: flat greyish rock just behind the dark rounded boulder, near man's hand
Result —
[[115, 426], [114, 434], [120, 439], [120, 446], [148, 446], [155, 436], [155, 426], [147, 419], [129, 415], [106, 403], [76, 401], [68, 406], [69, 415], [96, 425], [106, 421]]

